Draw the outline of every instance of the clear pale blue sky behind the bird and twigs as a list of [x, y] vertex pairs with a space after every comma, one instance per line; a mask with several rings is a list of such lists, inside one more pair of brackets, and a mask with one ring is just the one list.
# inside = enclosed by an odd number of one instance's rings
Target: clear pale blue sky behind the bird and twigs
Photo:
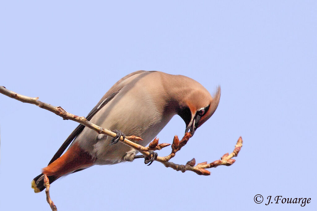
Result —
[[[314, 210], [317, 15], [314, 1], [7, 1], [1, 3], [0, 85], [85, 116], [120, 78], [158, 70], [222, 94], [215, 114], [173, 162], [212, 162], [210, 176], [142, 160], [94, 166], [51, 186], [59, 210]], [[1, 210], [49, 210], [31, 180], [77, 126], [0, 95]], [[184, 133], [175, 116], [159, 133]], [[159, 151], [160, 156], [170, 149]], [[263, 195], [261, 204], [254, 196]], [[311, 198], [269, 204], [274, 198]]]

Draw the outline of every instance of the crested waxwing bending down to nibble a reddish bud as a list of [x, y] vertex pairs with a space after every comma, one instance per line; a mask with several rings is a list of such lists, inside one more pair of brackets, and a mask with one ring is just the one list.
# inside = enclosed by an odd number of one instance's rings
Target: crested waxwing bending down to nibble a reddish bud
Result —
[[217, 109], [220, 93], [218, 86], [211, 96], [203, 85], [183, 75], [160, 71], [130, 73], [116, 82], [86, 117], [116, 132], [116, 138], [80, 124], [42, 169], [42, 174], [32, 180], [31, 187], [36, 193], [45, 189], [44, 174], [52, 183], [93, 165], [133, 161], [138, 151], [118, 142], [119, 138], [135, 135], [143, 139], [138, 144], [146, 146], [174, 115], [184, 120], [185, 133], [189, 131], [193, 136]]

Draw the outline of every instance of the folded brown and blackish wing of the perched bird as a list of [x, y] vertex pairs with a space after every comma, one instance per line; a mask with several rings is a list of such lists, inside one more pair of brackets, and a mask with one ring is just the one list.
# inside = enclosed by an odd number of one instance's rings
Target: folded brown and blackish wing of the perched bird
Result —
[[[114, 96], [116, 96], [120, 90], [125, 86], [126, 83], [123, 83], [126, 79], [130, 78], [133, 75], [140, 74], [142, 72], [145, 72], [143, 70], [136, 71], [133, 73], [130, 73], [129, 75], [126, 75], [125, 77], [121, 78], [117, 83], [115, 83], [108, 91], [107, 93], [101, 98], [101, 100], [97, 103], [97, 105], [89, 112], [86, 119], [88, 121], [91, 120], [91, 118], [103, 107], [105, 106], [109, 101], [113, 99]], [[57, 150], [51, 161], [49, 161], [49, 164], [54, 162], [57, 158], [61, 157], [61, 154], [66, 150], [66, 148], [69, 146], [69, 144], [76, 138], [77, 135], [79, 135], [82, 130], [85, 128], [84, 125], [80, 124], [78, 125], [74, 131], [68, 136], [68, 138], [64, 141], [64, 143], [61, 145], [61, 147]]]

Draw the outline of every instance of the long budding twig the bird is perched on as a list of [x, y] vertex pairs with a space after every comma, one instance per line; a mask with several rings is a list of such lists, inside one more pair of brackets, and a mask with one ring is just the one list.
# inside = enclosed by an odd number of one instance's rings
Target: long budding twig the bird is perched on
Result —
[[[62, 109], [60, 106], [55, 107], [52, 106], [48, 103], [44, 103], [38, 100], [38, 97], [28, 97], [28, 96], [23, 96], [20, 94], [17, 94], [13, 91], [10, 91], [8, 89], [6, 89], [3, 86], [0, 86], [0, 93], [9, 96], [11, 98], [14, 98], [16, 100], [19, 100], [21, 102], [27, 102], [27, 103], [31, 103], [31, 104], [35, 104], [37, 106], [39, 106], [42, 109], [46, 109], [49, 110], [53, 113], [55, 113], [56, 115], [61, 116], [64, 120], [73, 120], [76, 122], [81, 123], [82, 125], [85, 125], [86, 127], [89, 127], [93, 130], [95, 130], [97, 133], [99, 134], [106, 134], [108, 136], [111, 137], [115, 137], [116, 133], [104, 129], [98, 125], [95, 125], [89, 121], [87, 121], [87, 119], [83, 116], [77, 116], [77, 115], [73, 115], [68, 113], [67, 111], [65, 111], [64, 109]], [[210, 172], [205, 170], [206, 168], [213, 168], [213, 167], [217, 167], [218, 165], [231, 165], [235, 162], [234, 159], [231, 159], [233, 156], [237, 156], [238, 152], [240, 151], [241, 147], [242, 147], [242, 138], [240, 137], [235, 150], [229, 155], [228, 153], [226, 153], [225, 155], [223, 155], [223, 157], [221, 158], [221, 160], [217, 160], [214, 161], [210, 164], [207, 164], [207, 162], [204, 163], [199, 163], [196, 166], [195, 165], [195, 160], [194, 158], [187, 162], [186, 165], [180, 165], [180, 164], [174, 164], [172, 162], [168, 162], [171, 158], [173, 158], [175, 156], [175, 153], [178, 152], [189, 140], [189, 138], [191, 137], [190, 133], [185, 133], [184, 137], [182, 138], [181, 141], [179, 141], [177, 136], [174, 136], [174, 140], [173, 140], [173, 144], [172, 144], [172, 151], [168, 156], [165, 157], [157, 157], [156, 161], [163, 163], [166, 167], [171, 167], [173, 169], [175, 169], [176, 171], [194, 171], [199, 175], [210, 175]], [[143, 155], [149, 157], [150, 153], [148, 151], [152, 150], [160, 150], [163, 147], [169, 146], [170, 144], [159, 144], [158, 143], [158, 139], [155, 138], [148, 147], [144, 147], [142, 145], [139, 145], [137, 143], [132, 142], [131, 140], [142, 140], [141, 138], [137, 137], [137, 136], [127, 136], [124, 140], [122, 140], [122, 136], [120, 137], [120, 141], [122, 141], [124, 144], [138, 150], [139, 152], [141, 152]]]

